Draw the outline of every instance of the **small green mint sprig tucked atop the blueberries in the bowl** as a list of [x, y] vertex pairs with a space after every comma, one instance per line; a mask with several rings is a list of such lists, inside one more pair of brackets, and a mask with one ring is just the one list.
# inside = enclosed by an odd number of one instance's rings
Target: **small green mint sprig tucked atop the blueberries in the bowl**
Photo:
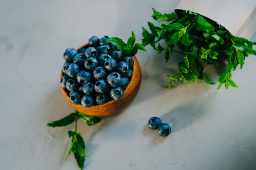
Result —
[[119, 51], [123, 51], [127, 56], [134, 56], [137, 54], [138, 50], [146, 51], [145, 47], [141, 44], [135, 43], [136, 37], [134, 32], [127, 40], [127, 43], [123, 42], [121, 38], [110, 37], [106, 40], [105, 43], [111, 42]]

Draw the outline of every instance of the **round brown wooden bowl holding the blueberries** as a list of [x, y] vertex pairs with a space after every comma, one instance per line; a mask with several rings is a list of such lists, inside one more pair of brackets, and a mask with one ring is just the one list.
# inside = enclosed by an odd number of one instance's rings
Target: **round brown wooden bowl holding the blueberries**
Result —
[[[87, 44], [79, 47], [78, 50], [85, 47], [86, 45]], [[84, 107], [81, 104], [78, 104], [78, 105], [72, 104], [70, 102], [70, 98], [66, 90], [61, 86], [61, 90], [65, 99], [75, 110], [81, 113], [84, 113], [86, 115], [104, 117], [104, 116], [109, 116], [117, 113], [118, 111], [126, 107], [128, 104], [130, 104], [134, 100], [139, 90], [139, 86], [141, 82], [141, 69], [136, 56], [133, 56], [132, 58], [134, 59], [133, 76], [131, 78], [129, 85], [124, 90], [123, 97], [121, 99], [112, 100], [100, 105], [93, 105], [91, 107]], [[62, 77], [62, 74], [63, 72], [61, 71], [60, 78]]]

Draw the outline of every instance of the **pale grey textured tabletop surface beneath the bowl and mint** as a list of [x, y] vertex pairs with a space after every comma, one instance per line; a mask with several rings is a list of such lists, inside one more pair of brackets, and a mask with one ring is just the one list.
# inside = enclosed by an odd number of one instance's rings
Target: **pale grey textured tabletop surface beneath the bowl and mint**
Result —
[[[65, 161], [74, 124], [46, 126], [74, 111], [59, 87], [63, 51], [92, 35], [127, 39], [134, 31], [140, 43], [141, 26], [153, 21], [151, 7], [172, 12], [179, 1], [0, 2], [0, 169], [76, 170], [73, 155]], [[137, 54], [143, 78], [135, 100], [97, 125], [79, 121], [90, 155], [84, 170], [255, 170], [256, 57], [234, 72], [238, 88], [199, 82], [170, 90], [165, 75], [175, 63], [147, 50]], [[149, 130], [152, 116], [174, 124], [172, 134]]]

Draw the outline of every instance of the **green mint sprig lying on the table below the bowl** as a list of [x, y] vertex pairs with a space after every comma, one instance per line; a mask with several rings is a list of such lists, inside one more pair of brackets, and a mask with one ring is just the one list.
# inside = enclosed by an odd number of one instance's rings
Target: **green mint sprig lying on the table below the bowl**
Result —
[[74, 153], [78, 166], [82, 170], [85, 157], [89, 157], [89, 155], [85, 151], [85, 142], [82, 136], [80, 135], [80, 133], [77, 132], [78, 119], [83, 120], [86, 124], [90, 126], [98, 123], [101, 120], [101, 117], [89, 116], [79, 111], [76, 111], [75, 113], [71, 113], [62, 119], [47, 123], [47, 125], [51, 127], [61, 127], [75, 122], [75, 131], [68, 131], [69, 138], [72, 137], [72, 143], [66, 156], [66, 160], [71, 153]]

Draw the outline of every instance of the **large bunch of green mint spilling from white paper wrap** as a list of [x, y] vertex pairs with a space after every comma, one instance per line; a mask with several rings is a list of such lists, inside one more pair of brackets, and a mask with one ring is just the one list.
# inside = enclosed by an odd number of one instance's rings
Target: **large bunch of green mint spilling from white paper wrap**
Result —
[[[238, 87], [232, 80], [232, 72], [238, 65], [242, 68], [245, 57], [249, 54], [256, 55], [253, 49], [256, 42], [237, 37], [217, 22], [191, 11], [175, 10], [170, 14], [163, 14], [153, 8], [152, 17], [157, 23], [163, 23], [155, 26], [148, 22], [149, 30], [142, 27], [142, 45], [149, 44], [158, 53], [164, 51], [166, 62], [172, 52], [184, 55], [183, 61], [178, 63], [179, 72], [168, 75], [169, 88], [174, 87], [173, 83], [178, 81], [186, 83], [203, 79], [210, 85], [215, 84], [206, 78], [202, 63], [218, 67], [220, 58], [227, 61], [227, 66], [218, 79], [217, 89], [222, 85], [225, 85], [225, 88]], [[175, 51], [175, 46], [181, 51]]]

